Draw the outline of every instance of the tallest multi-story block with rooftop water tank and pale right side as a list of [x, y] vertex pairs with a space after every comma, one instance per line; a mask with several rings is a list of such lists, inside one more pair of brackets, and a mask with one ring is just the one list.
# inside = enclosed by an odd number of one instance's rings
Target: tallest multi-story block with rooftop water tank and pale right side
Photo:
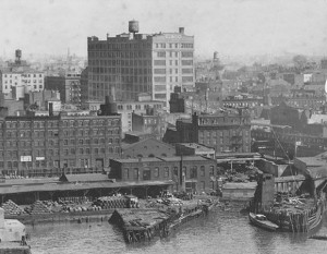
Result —
[[[174, 86], [183, 90], [194, 86], [194, 37], [179, 33], [137, 34], [138, 22], [129, 23], [129, 34], [106, 40], [87, 38], [87, 100], [104, 101], [116, 94], [117, 100], [134, 100], [138, 93], [168, 107]], [[113, 88], [112, 88], [113, 87]]]

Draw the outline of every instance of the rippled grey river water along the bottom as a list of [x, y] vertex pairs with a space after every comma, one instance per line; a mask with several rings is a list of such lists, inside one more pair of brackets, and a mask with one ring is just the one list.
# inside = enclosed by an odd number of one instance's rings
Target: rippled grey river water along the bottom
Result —
[[[326, 218], [318, 234], [327, 234]], [[107, 221], [90, 223], [44, 223], [34, 228], [28, 244], [33, 254], [86, 253], [327, 253], [327, 241], [305, 234], [267, 232], [249, 223], [238, 210], [218, 208], [181, 226], [169, 238], [150, 243], [128, 245], [121, 231]]]

